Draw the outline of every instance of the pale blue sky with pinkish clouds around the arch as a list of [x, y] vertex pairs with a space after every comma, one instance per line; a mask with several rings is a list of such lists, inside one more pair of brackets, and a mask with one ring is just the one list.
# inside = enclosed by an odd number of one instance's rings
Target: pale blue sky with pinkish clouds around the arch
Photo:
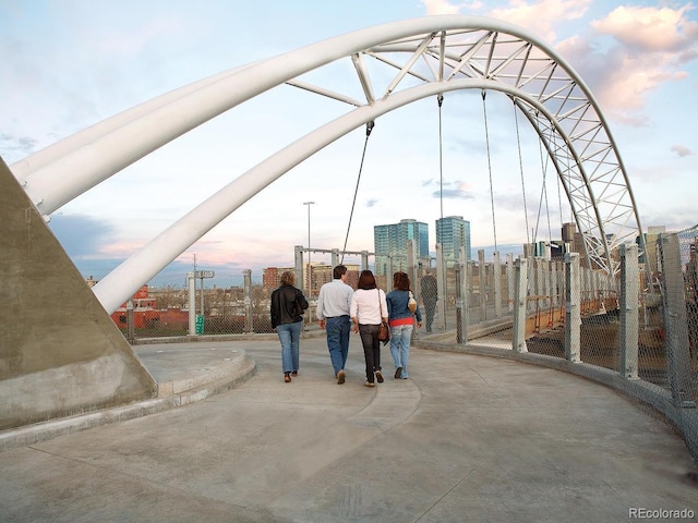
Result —
[[[366, 26], [447, 13], [506, 20], [553, 46], [609, 120], [642, 226], [679, 230], [698, 223], [698, 14], [687, 2], [4, 0], [0, 156], [11, 166], [210, 74]], [[482, 107], [477, 93], [457, 100], [470, 124], [467, 133], [456, 129], [446, 99], [444, 216], [469, 220], [477, 248], [493, 243], [488, 175], [473, 167], [486, 161]], [[104, 276], [238, 174], [325, 122], [329, 104], [289, 86], [274, 89], [124, 169], [59, 209], [50, 226], [84, 273]], [[488, 111], [497, 241], [519, 245], [527, 238], [525, 218], [510, 200], [521, 199], [521, 185], [502, 173], [518, 162], [510, 147], [516, 131], [505, 102], [493, 97]], [[402, 218], [429, 223], [434, 243], [442, 205], [437, 129], [434, 100], [376, 121], [348, 248], [371, 251], [373, 226]], [[200, 267], [291, 265], [293, 246], [308, 243], [308, 200], [315, 202], [312, 245], [340, 248], [363, 139], [361, 129], [301, 163], [178, 263], [191, 267], [195, 254]], [[524, 134], [524, 144], [537, 157], [530, 135]], [[557, 188], [550, 183], [550, 208], [539, 212], [542, 167], [531, 161], [526, 171], [529, 224], [539, 222], [538, 235], [546, 239], [550, 223], [558, 238], [569, 217], [563, 210], [561, 220]]]

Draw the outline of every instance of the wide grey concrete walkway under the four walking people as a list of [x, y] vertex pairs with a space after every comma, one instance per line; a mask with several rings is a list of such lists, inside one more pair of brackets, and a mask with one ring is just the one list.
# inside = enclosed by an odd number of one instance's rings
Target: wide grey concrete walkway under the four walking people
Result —
[[413, 349], [410, 379], [394, 379], [385, 348], [385, 382], [370, 389], [354, 336], [342, 386], [324, 338], [302, 340], [291, 384], [276, 340], [135, 349], [170, 408], [15, 440], [0, 452], [0, 521], [598, 523], [635, 509], [698, 518], [682, 439], [576, 376]]

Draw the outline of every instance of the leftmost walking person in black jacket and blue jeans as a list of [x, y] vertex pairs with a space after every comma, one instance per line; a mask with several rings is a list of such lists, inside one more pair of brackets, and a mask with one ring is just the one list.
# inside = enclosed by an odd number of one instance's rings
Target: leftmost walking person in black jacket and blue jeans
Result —
[[281, 285], [272, 293], [272, 328], [279, 335], [281, 342], [281, 366], [284, 381], [289, 384], [291, 376], [298, 376], [301, 331], [308, 300], [300, 289], [293, 287], [296, 275], [290, 270], [281, 275]]

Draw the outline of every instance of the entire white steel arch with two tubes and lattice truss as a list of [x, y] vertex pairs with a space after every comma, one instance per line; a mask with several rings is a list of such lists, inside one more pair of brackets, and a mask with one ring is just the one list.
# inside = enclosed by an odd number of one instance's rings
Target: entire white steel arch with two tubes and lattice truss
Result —
[[[365, 100], [300, 78], [348, 57]], [[372, 82], [369, 63], [390, 72], [387, 85]], [[553, 159], [597, 267], [615, 272], [616, 247], [638, 235], [642, 240], [617, 147], [583, 81], [534, 35], [480, 16], [429, 16], [369, 27], [220, 73], [118, 114], [11, 169], [39, 211], [50, 215], [181, 134], [282, 83], [354, 109], [240, 175], [103, 279], [94, 290], [107, 311], [325, 145], [406, 104], [460, 88], [506, 93], [527, 115]]]

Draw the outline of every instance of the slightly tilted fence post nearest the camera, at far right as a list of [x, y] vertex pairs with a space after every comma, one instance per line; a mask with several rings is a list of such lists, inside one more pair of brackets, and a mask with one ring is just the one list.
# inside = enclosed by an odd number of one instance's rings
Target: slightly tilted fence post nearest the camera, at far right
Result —
[[678, 235], [660, 234], [664, 288], [664, 325], [666, 326], [666, 358], [672, 398], [678, 406], [694, 408], [690, 380], [690, 354], [686, 316], [684, 272], [681, 268]]

